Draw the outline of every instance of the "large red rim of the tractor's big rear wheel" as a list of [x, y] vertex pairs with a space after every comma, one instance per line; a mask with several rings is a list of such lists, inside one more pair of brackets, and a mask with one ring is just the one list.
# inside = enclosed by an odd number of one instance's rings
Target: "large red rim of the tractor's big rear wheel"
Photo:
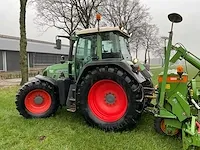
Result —
[[89, 91], [88, 105], [98, 119], [115, 122], [124, 116], [128, 100], [124, 89], [118, 83], [100, 80]]

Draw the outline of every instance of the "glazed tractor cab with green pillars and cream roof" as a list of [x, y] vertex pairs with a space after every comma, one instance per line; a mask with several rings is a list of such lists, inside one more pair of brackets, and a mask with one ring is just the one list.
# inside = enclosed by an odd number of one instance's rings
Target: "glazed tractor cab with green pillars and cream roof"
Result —
[[128, 34], [119, 27], [102, 27], [85, 29], [76, 32], [77, 45], [75, 52], [76, 73], [91, 61], [131, 61], [128, 49]]

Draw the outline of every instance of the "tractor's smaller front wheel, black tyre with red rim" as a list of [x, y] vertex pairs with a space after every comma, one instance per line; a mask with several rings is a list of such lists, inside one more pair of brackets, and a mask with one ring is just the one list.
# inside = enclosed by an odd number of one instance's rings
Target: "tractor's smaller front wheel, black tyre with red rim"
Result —
[[53, 86], [41, 81], [26, 83], [16, 95], [16, 106], [25, 118], [46, 118], [58, 108]]

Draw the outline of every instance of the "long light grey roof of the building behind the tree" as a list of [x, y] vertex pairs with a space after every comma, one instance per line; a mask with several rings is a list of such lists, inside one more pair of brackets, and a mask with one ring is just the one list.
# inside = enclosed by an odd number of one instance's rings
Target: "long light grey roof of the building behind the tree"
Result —
[[[0, 35], [0, 50], [19, 51], [20, 38], [14, 36]], [[69, 46], [62, 45], [62, 49], [55, 49], [55, 43], [27, 39], [27, 52], [50, 53], [68, 55]]]

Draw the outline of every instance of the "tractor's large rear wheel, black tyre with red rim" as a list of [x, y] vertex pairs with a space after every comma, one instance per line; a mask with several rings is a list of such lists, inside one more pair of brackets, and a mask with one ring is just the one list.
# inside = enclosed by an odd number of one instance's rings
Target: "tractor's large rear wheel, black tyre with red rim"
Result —
[[106, 131], [135, 127], [143, 110], [143, 88], [117, 68], [96, 68], [78, 89], [79, 107], [85, 120]]

